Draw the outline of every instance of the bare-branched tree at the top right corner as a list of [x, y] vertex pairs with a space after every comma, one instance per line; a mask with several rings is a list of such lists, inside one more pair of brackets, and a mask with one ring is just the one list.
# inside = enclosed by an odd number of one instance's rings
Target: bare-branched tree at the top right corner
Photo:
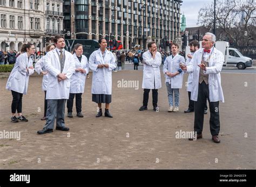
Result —
[[[198, 25], [213, 30], [214, 2], [199, 10]], [[216, 0], [217, 40], [255, 45], [254, 0]], [[247, 35], [246, 35], [247, 33]]]

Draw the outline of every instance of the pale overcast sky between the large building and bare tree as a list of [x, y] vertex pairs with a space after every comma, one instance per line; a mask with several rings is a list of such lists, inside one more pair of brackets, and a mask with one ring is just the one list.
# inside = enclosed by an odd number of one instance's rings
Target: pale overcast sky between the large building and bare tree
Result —
[[200, 8], [203, 8], [205, 4], [209, 4], [211, 2], [214, 2], [214, 0], [183, 0], [182, 5], [180, 6], [180, 13], [184, 13], [185, 15], [187, 27], [198, 26], [198, 11]]

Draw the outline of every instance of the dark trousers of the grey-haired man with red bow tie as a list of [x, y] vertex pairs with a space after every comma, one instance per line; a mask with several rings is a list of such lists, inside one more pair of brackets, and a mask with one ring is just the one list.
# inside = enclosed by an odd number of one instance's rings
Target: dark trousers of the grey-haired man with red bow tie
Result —
[[219, 102], [210, 102], [208, 85], [203, 81], [198, 85], [197, 102], [194, 102], [194, 131], [197, 134], [203, 132], [204, 110], [208, 99], [210, 108], [210, 131], [212, 135], [218, 135], [220, 131]]

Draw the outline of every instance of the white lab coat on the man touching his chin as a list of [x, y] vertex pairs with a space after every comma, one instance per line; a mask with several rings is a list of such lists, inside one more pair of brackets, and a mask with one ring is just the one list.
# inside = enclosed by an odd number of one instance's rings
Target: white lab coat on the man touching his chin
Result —
[[[162, 62], [161, 54], [157, 52], [153, 59], [150, 51], [143, 53], [143, 81], [142, 88], [144, 89], [159, 89], [161, 88], [160, 65]], [[155, 84], [155, 87], [154, 87]]]

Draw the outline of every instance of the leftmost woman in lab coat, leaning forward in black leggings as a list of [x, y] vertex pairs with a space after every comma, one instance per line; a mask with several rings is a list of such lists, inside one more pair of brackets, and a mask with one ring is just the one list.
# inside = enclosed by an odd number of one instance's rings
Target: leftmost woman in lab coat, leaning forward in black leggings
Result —
[[[22, 97], [28, 91], [29, 76], [35, 71], [32, 59], [30, 58], [30, 55], [35, 53], [35, 46], [30, 43], [23, 44], [21, 52], [22, 54], [17, 57], [14, 68], [6, 83], [6, 89], [11, 90], [12, 93], [11, 121], [14, 123], [28, 121], [28, 119], [22, 116]], [[16, 111], [18, 118], [15, 116]]]

